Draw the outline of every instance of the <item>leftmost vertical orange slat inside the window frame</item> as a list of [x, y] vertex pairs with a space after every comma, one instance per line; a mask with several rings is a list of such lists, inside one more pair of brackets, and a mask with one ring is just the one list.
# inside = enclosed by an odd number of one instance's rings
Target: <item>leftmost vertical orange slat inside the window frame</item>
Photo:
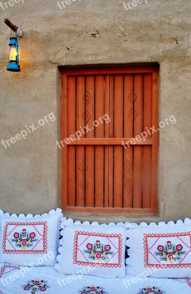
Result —
[[[67, 136], [70, 137], [75, 133], [75, 77], [67, 78]], [[73, 107], [71, 107], [73, 105]], [[67, 148], [67, 205], [75, 206], [76, 204], [76, 175], [75, 175], [75, 146], [65, 146]]]

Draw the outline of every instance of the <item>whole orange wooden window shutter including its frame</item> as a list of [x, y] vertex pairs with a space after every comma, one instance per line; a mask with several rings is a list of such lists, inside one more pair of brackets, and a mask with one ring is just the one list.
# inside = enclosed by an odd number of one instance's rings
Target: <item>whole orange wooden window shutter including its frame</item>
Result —
[[[106, 114], [110, 123], [93, 125]], [[152, 126], [158, 128], [156, 67], [64, 70], [61, 140], [82, 136], [61, 149], [63, 209], [156, 212], [159, 135]], [[146, 140], [122, 146], [143, 131]]]

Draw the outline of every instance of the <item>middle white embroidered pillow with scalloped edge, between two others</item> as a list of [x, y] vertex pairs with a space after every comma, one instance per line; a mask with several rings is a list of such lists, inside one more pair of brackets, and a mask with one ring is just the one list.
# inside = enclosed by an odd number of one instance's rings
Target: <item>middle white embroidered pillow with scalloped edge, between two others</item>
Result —
[[126, 227], [123, 223], [101, 224], [88, 221], [62, 221], [61, 239], [55, 269], [61, 273], [87, 273], [104, 277], [124, 277]]

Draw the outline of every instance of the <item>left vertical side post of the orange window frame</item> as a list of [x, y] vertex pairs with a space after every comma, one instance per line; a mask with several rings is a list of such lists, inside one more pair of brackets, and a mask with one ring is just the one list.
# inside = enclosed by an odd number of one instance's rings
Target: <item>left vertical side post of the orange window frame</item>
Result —
[[[62, 75], [61, 92], [61, 141], [67, 137], [67, 76]], [[67, 148], [61, 149], [61, 198], [63, 207], [67, 207]]]

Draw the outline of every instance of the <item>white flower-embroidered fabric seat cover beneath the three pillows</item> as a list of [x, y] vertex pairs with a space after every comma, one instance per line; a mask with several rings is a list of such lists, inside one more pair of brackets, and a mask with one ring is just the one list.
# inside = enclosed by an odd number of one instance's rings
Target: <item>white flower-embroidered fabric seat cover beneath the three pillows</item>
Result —
[[[92, 291], [87, 292], [90, 290]], [[138, 278], [127, 275], [124, 278], [106, 278], [87, 274], [64, 276], [54, 267], [26, 268], [0, 264], [0, 294], [13, 293], [191, 294], [191, 280], [157, 279], [144, 276]]]

